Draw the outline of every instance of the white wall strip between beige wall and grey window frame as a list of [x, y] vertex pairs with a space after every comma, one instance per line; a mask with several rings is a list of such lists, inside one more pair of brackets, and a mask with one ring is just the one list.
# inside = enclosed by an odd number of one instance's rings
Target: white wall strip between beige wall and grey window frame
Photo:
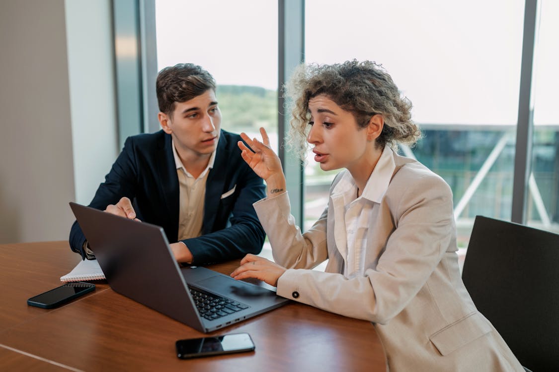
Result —
[[111, 4], [65, 4], [75, 201], [87, 205], [118, 154]]

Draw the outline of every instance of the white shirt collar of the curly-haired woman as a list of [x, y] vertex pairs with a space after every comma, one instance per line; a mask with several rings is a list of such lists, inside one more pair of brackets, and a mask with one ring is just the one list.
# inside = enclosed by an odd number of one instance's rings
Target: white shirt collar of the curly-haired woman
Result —
[[[394, 152], [390, 146], [385, 146], [361, 197], [380, 204], [382, 197], [386, 194], [386, 190], [388, 190], [395, 169]], [[348, 171], [345, 171], [342, 179], [332, 190], [332, 194], [345, 194], [346, 192], [351, 192], [353, 195], [357, 194], [357, 185]]]

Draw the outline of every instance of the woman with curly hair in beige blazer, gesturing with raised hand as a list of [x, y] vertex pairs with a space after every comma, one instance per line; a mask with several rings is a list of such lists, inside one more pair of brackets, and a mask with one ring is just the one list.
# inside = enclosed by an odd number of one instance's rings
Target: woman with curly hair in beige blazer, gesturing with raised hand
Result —
[[[239, 142], [244, 160], [268, 186], [254, 208], [276, 262], [249, 254], [231, 276], [371, 321], [390, 371], [523, 371], [462, 283], [451, 189], [392, 149], [420, 132], [390, 75], [369, 61], [301, 65], [286, 93], [291, 143], [301, 153], [310, 143], [321, 169], [344, 170], [301, 234], [266, 131], [262, 142], [241, 134], [250, 146]], [[311, 270], [326, 259], [325, 272]]]

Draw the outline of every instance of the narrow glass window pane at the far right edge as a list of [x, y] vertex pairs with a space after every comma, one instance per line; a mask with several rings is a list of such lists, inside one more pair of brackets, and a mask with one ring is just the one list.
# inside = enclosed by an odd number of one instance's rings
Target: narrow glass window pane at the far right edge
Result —
[[534, 49], [534, 137], [527, 224], [559, 233], [559, 2], [541, 1]]

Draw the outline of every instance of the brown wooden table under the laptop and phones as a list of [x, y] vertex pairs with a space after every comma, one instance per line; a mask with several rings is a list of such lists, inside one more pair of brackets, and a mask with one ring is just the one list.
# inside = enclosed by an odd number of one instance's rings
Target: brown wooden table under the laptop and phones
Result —
[[[290, 303], [209, 335], [248, 332], [256, 350], [180, 360], [178, 339], [205, 336], [121, 296], [106, 281], [62, 307], [27, 306], [80, 257], [67, 241], [0, 245], [0, 370], [384, 371], [371, 323]], [[229, 273], [238, 261], [212, 265]]]

